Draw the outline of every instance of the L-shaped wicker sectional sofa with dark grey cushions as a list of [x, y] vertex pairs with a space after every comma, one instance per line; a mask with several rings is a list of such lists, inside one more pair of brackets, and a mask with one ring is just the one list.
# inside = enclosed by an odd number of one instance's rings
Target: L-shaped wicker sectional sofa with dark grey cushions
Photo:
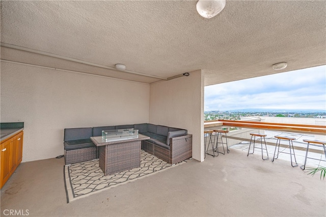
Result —
[[90, 137], [102, 135], [102, 130], [135, 128], [150, 137], [142, 141], [142, 149], [168, 162], [178, 162], [192, 157], [192, 134], [186, 129], [149, 123], [87, 128], [66, 128], [64, 130], [65, 164], [75, 164], [98, 158], [98, 148]]

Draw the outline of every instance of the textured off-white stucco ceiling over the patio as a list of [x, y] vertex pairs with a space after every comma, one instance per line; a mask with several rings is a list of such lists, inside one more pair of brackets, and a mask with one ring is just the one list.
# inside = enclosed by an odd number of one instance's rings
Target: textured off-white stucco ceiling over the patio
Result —
[[326, 1], [228, 0], [211, 19], [196, 3], [1, 1], [1, 59], [144, 83], [202, 69], [205, 85], [326, 64]]

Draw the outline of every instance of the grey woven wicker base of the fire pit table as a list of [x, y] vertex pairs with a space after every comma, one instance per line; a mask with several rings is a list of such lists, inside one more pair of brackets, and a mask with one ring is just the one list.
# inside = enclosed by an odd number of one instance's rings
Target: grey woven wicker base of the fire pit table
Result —
[[[100, 161], [105, 157], [101, 152], [102, 149], [100, 149]], [[106, 170], [103, 171], [105, 175], [130, 170], [141, 165], [141, 141], [106, 145], [105, 152]]]

